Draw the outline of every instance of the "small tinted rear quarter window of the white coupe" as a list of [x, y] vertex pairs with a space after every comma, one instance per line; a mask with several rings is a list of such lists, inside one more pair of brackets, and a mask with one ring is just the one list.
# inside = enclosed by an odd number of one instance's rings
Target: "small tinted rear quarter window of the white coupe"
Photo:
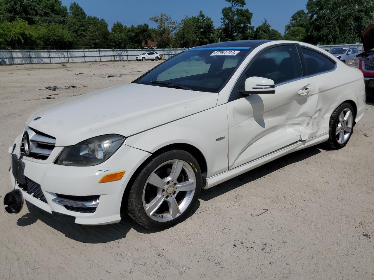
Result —
[[303, 52], [308, 75], [327, 72], [335, 68], [335, 62], [314, 50], [301, 48]]

